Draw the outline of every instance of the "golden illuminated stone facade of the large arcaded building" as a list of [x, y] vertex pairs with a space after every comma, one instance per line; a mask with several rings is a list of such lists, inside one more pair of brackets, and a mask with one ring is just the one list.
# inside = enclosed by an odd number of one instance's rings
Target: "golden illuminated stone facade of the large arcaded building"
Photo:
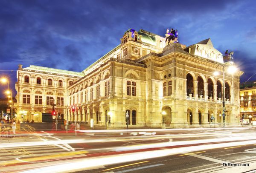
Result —
[[[223, 80], [222, 75], [213, 75], [217, 66], [223, 64], [222, 54], [214, 49], [210, 39], [188, 47], [173, 41], [166, 46], [165, 40], [144, 30], [129, 29], [121, 38], [121, 44], [111, 52], [81, 73], [73, 72], [77, 75], [62, 77], [65, 83], [73, 80], [71, 86], [66, 84], [59, 88], [58, 75], [61, 73], [53, 72], [55, 86], [45, 84], [42, 93], [47, 97], [48, 90], [52, 89], [55, 101], [59, 91], [63, 93], [62, 110], [69, 121], [90, 124], [93, 119], [94, 124], [125, 127], [128, 112], [129, 124], [134, 127], [208, 125], [211, 115], [215, 117], [215, 123], [222, 122], [219, 114], [222, 112]], [[35, 95], [35, 81], [26, 86], [24, 76], [33, 76], [35, 80], [37, 73], [25, 69], [17, 72], [20, 99], [25, 88]], [[222, 71], [220, 66], [217, 69]], [[240, 75], [241, 71], [233, 75], [225, 73], [228, 124], [239, 124]], [[45, 83], [49, 76], [45, 74]], [[20, 110], [32, 106], [31, 112], [35, 114], [34, 104], [18, 102]], [[71, 105], [77, 108], [74, 113]], [[46, 111], [44, 106], [42, 111]]]

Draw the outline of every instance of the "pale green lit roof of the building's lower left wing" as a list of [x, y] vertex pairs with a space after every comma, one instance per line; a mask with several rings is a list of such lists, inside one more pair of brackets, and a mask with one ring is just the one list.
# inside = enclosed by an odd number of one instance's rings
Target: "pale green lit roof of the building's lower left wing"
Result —
[[68, 70], [53, 69], [53, 68], [43, 67], [43, 66], [30, 65], [29, 67], [26, 67], [23, 69], [35, 70], [35, 71], [40, 71], [40, 72], [56, 73], [56, 74], [60, 74], [60, 75], [71, 75], [71, 76], [78, 76], [78, 77], [84, 76], [84, 73], [82, 73], [82, 72], [72, 72], [72, 71], [68, 71]]

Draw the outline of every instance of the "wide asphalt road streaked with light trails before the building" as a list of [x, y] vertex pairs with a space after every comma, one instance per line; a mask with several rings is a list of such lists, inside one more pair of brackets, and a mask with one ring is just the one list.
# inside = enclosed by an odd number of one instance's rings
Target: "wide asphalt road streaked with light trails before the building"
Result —
[[4, 173], [253, 173], [256, 128], [41, 131], [1, 137], [0, 154]]

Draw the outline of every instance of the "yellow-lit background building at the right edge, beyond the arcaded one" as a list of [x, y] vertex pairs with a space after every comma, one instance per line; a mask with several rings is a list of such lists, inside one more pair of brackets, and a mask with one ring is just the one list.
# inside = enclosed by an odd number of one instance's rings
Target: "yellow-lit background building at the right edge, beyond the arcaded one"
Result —
[[243, 124], [256, 121], [256, 81], [248, 81], [240, 86], [240, 101]]

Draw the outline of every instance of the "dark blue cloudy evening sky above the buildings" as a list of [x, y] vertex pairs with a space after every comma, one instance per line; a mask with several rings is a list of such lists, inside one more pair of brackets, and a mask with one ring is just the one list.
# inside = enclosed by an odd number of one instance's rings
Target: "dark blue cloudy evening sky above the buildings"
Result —
[[[255, 0], [1, 0], [0, 70], [21, 63], [81, 72], [129, 28], [163, 36], [175, 28], [187, 46], [210, 37], [220, 52], [234, 51], [243, 82], [256, 72], [255, 6]], [[16, 72], [7, 73], [15, 89]]]

